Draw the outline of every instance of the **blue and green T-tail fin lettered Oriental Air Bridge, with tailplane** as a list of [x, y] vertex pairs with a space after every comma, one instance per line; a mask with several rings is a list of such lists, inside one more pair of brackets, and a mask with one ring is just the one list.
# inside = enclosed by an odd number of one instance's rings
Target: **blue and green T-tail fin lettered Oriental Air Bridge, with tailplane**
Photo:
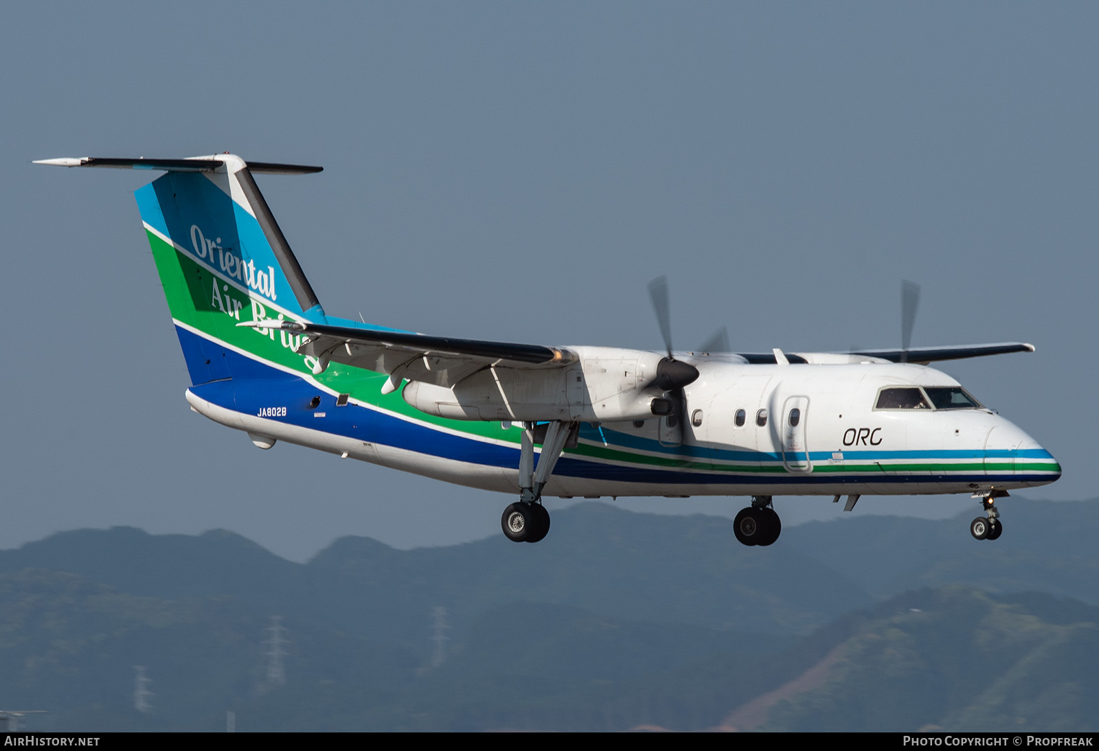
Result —
[[231, 154], [37, 164], [165, 171], [135, 197], [193, 385], [245, 375], [255, 359], [309, 372], [303, 357], [293, 351], [295, 337], [236, 324], [265, 318], [326, 322], [253, 178], [307, 175], [320, 167], [249, 164]]

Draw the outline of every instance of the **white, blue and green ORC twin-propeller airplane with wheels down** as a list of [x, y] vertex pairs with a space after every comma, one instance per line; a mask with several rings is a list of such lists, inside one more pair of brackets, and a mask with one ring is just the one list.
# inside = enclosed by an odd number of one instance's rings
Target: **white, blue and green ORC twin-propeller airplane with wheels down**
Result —
[[[135, 192], [191, 385], [191, 410], [269, 449], [279, 440], [487, 491], [519, 493], [503, 534], [537, 542], [543, 498], [751, 496], [733, 533], [769, 546], [775, 495], [970, 493], [969, 531], [1002, 533], [996, 500], [1056, 481], [1033, 438], [929, 367], [1023, 343], [900, 349], [675, 351], [667, 283], [650, 285], [664, 351], [417, 334], [321, 306], [254, 175], [321, 167], [59, 158], [164, 175]], [[709, 350], [714, 351], [709, 351]]]

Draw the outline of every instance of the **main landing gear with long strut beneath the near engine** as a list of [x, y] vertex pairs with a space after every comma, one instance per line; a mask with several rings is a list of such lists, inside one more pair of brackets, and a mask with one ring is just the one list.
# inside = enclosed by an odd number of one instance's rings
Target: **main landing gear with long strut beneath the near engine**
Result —
[[[576, 445], [579, 423], [554, 421], [543, 425], [523, 424], [519, 452], [519, 501], [503, 509], [500, 527], [512, 542], [537, 542], [550, 531], [550, 512], [542, 505], [553, 468], [566, 446]], [[544, 435], [543, 430], [545, 431]], [[537, 434], [537, 435], [535, 435]], [[534, 441], [542, 444], [539, 466], [534, 468]]]

